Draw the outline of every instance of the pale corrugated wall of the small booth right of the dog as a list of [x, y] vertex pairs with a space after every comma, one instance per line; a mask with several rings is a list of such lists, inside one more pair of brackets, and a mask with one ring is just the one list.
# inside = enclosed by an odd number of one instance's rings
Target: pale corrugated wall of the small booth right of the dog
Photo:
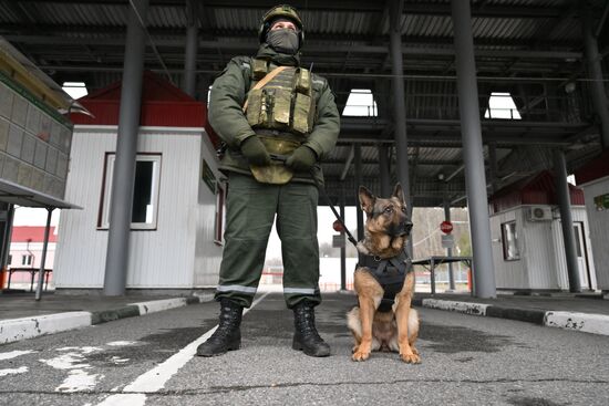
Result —
[[[503, 211], [491, 217], [493, 261], [498, 289], [568, 290], [567, 264], [562, 229], [559, 219], [528, 221], [527, 206]], [[582, 222], [592, 287], [596, 287], [589, 225], [581, 206], [571, 207], [574, 222]], [[520, 260], [506, 261], [503, 257], [500, 225], [516, 221]], [[551, 238], [550, 238], [551, 237]]]

